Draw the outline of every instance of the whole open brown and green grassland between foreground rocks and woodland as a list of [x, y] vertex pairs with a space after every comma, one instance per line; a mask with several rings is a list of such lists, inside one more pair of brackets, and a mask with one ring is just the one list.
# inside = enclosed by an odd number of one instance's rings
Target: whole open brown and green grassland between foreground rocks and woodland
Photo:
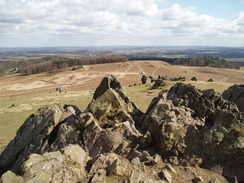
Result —
[[[186, 83], [201, 89], [214, 88], [220, 93], [234, 83], [244, 83], [243, 69], [171, 66], [159, 61], [87, 65], [76, 71], [67, 69], [57, 73], [3, 77], [0, 78], [0, 152], [15, 136], [24, 120], [43, 105], [64, 103], [77, 105], [81, 110], [85, 110], [92, 99], [94, 89], [108, 74], [118, 78], [128, 96], [144, 112], [161, 89], [150, 90], [152, 84], [128, 87], [139, 84], [142, 74], [155, 78], [159, 75], [185, 76]], [[197, 77], [197, 82], [190, 81], [193, 76]], [[206, 82], [210, 78], [214, 80], [213, 83]], [[167, 82], [164, 89], [169, 89], [173, 84], [175, 82]], [[62, 87], [64, 92], [56, 94], [57, 87]]]

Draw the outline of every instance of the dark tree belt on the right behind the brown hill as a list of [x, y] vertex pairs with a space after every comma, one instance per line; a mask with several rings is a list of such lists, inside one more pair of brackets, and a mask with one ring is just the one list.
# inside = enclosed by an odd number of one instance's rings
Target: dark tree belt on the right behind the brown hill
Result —
[[227, 62], [225, 59], [216, 57], [191, 57], [191, 58], [178, 58], [173, 64], [176, 65], [188, 65], [188, 66], [209, 66], [217, 68], [232, 68], [240, 69], [240, 65], [237, 63]]

